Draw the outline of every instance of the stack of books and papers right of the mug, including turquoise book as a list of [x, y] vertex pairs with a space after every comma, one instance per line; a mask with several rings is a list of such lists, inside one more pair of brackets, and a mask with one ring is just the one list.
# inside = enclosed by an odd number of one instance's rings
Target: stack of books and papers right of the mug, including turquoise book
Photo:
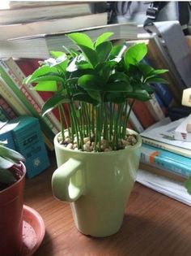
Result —
[[191, 142], [175, 136], [184, 120], [167, 118], [141, 133], [140, 169], [181, 182], [191, 176]]

